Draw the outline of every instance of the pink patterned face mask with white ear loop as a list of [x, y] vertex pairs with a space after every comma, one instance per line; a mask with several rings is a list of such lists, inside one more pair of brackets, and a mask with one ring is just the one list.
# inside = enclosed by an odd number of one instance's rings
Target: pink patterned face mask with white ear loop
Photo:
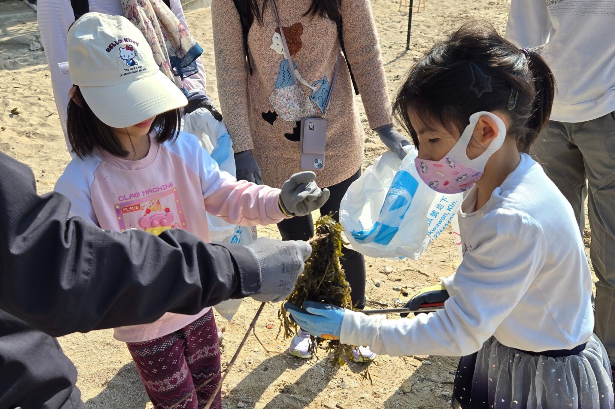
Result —
[[[481, 116], [491, 117], [498, 124], [498, 136], [491, 141], [488, 148], [476, 159], [469, 159], [466, 154], [474, 128]], [[483, 175], [485, 164], [499, 148], [506, 138], [506, 125], [502, 120], [490, 112], [477, 112], [470, 116], [470, 124], [461, 135], [461, 138], [440, 161], [428, 161], [415, 158], [416, 170], [419, 177], [427, 186], [438, 193], [453, 194], [464, 192], [474, 186]]]

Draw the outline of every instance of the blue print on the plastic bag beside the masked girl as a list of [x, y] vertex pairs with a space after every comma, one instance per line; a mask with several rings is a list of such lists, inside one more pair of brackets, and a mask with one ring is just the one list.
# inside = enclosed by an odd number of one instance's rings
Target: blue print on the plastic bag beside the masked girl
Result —
[[403, 216], [408, 212], [418, 187], [418, 181], [410, 172], [400, 170], [395, 173], [391, 187], [384, 197], [378, 221], [370, 230], [352, 231], [352, 237], [360, 243], [389, 244], [399, 231]]

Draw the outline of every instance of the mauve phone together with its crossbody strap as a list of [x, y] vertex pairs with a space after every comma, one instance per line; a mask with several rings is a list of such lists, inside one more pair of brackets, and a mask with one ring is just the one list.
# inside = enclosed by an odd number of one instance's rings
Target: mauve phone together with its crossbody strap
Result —
[[[276, 13], [277, 23], [280, 26], [280, 37], [282, 38], [282, 44], [284, 45], [284, 52], [286, 54], [286, 58], [288, 59], [288, 64], [290, 67], [293, 67], [293, 60], [290, 57], [290, 51], [288, 50], [288, 46], [286, 44], [284, 28], [282, 28], [282, 22], [280, 21], [280, 16], [277, 12], [275, 0], [272, 1], [272, 5], [274, 12]], [[329, 108], [329, 103], [331, 102], [331, 95], [333, 95], [335, 82], [338, 78], [340, 58], [341, 49], [338, 53], [338, 59], [335, 62], [335, 69], [333, 70], [333, 77], [331, 78], [331, 88], [329, 89], [327, 100], [325, 101], [325, 105], [322, 110], [322, 117], [306, 117], [301, 119], [301, 159], [299, 163], [301, 169], [321, 170], [325, 167], [325, 147], [327, 146], [327, 120], [325, 117], [327, 116], [327, 109]], [[293, 74], [293, 79], [295, 80], [301, 110], [305, 112], [305, 109], [303, 109], [303, 98], [301, 98], [299, 82], [295, 76], [295, 70], [290, 69], [290, 72]]]

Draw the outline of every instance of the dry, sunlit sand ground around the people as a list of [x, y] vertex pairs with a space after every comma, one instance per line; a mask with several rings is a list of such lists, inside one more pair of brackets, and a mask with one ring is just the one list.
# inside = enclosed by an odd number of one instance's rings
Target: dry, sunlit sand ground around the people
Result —
[[[402, 0], [403, 1], [403, 0]], [[417, 1], [415, 1], [415, 4]], [[0, 0], [0, 7], [5, 7]], [[389, 92], [394, 94], [403, 74], [434, 41], [468, 18], [486, 18], [501, 31], [506, 26], [509, 0], [427, 0], [426, 10], [413, 16], [411, 50], [405, 51], [407, 11], [399, 12], [396, 0], [372, 0]], [[407, 10], [407, 9], [406, 9]], [[215, 101], [216, 73], [213, 60], [212, 23], [209, 8], [186, 13], [192, 33], [204, 48], [207, 91]], [[69, 161], [51, 90], [44, 52], [38, 43], [38, 26], [31, 17], [0, 20], [0, 151], [30, 165], [39, 193], [53, 189]], [[14, 109], [17, 109], [15, 111]], [[13, 111], [13, 113], [11, 113]], [[367, 118], [362, 112], [367, 129]], [[364, 167], [383, 153], [373, 132], [365, 138]], [[275, 228], [260, 234], [279, 237]], [[409, 292], [436, 284], [450, 275], [458, 263], [451, 234], [444, 234], [419, 261], [368, 259], [368, 307], [378, 303], [395, 306], [402, 300], [393, 287]], [[384, 274], [383, 271], [391, 271]], [[381, 285], [376, 287], [376, 282]], [[225, 333], [222, 362], [226, 365], [255, 314], [258, 304], [245, 300], [232, 324], [217, 317]], [[284, 352], [288, 340], [276, 340], [279, 304], [263, 311], [256, 333], [270, 351]], [[274, 329], [268, 330], [267, 324]], [[140, 409], [151, 407], [137, 370], [124, 344], [113, 340], [111, 330], [74, 334], [60, 342], [79, 370], [77, 385], [90, 408]], [[423, 408], [449, 406], [457, 359], [414, 356], [378, 357], [369, 365], [373, 384], [361, 383], [367, 364], [331, 367], [327, 356], [300, 360], [263, 351], [252, 337], [223, 387], [224, 407], [245, 408]], [[402, 383], [405, 384], [402, 392]], [[240, 403], [241, 402], [241, 403]]]

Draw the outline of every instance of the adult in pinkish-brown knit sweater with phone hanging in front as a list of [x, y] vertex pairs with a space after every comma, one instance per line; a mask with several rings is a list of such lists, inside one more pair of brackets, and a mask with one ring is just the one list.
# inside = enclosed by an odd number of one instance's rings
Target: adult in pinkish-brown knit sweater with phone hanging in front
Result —
[[[252, 22], [246, 43], [248, 60], [234, 0], [212, 1], [216, 77], [220, 105], [236, 152], [237, 178], [280, 186], [300, 170], [300, 121], [304, 116], [322, 116], [322, 95], [330, 90], [340, 54], [336, 23], [342, 22], [345, 52], [327, 110], [325, 167], [316, 171], [319, 185], [331, 191], [321, 213], [338, 212], [347, 188], [359, 178], [365, 139], [346, 60], [362, 95], [370, 128], [400, 157], [405, 155], [402, 147], [410, 144], [392, 127], [370, 1], [276, 0], [299, 84], [293, 79], [272, 1], [244, 0], [252, 17], [248, 18]], [[297, 86], [304, 113], [296, 97]], [[278, 226], [284, 240], [306, 240], [313, 232], [311, 216], [282, 221]], [[352, 303], [363, 308], [365, 260], [359, 253], [344, 249], [342, 264], [352, 288]], [[295, 338], [291, 352], [307, 358], [307, 335], [301, 335], [303, 341]], [[371, 356], [363, 352], [363, 356]]]

